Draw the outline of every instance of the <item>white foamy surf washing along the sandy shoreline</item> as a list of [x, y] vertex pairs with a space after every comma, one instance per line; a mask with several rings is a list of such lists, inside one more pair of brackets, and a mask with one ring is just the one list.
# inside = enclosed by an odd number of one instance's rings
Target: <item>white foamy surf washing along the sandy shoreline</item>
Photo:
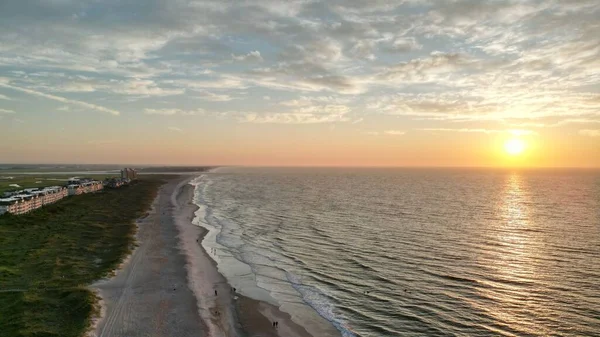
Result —
[[[302, 271], [280, 254], [273, 242], [263, 242], [260, 236], [251, 243], [245, 242], [243, 228], [238, 223], [209, 208], [212, 203], [209, 188], [213, 183], [209, 175], [191, 182], [195, 186], [194, 203], [199, 207], [193, 223], [208, 230], [202, 246], [230, 285], [242, 295], [275, 305], [314, 336], [327, 329], [319, 327], [319, 316], [331, 322], [344, 337], [354, 336], [345, 328], [345, 322], [335, 318], [333, 305], [325, 301], [325, 295], [290, 276]], [[223, 204], [225, 200], [219, 202]]]

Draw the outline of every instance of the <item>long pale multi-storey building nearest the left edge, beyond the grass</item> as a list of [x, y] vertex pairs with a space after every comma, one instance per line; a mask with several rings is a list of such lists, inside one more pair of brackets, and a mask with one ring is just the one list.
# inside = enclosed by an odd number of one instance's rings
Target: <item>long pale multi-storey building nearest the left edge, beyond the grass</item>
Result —
[[24, 214], [44, 205], [52, 204], [68, 195], [62, 186], [28, 188], [15, 191], [7, 198], [0, 199], [0, 214]]

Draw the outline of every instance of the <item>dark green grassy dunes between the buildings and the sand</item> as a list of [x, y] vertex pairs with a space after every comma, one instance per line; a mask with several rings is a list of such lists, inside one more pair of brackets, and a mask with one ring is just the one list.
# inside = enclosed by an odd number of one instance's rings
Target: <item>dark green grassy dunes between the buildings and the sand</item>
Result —
[[0, 335], [81, 336], [95, 310], [87, 286], [131, 250], [164, 177], [0, 216]]

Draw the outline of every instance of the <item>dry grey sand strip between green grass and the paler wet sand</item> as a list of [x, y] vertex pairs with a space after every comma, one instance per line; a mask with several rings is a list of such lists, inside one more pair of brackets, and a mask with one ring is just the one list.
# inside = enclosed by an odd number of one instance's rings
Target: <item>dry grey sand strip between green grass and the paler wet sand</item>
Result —
[[196, 300], [187, 283], [171, 196], [177, 178], [163, 185], [148, 215], [137, 221], [137, 248], [115, 277], [93, 285], [103, 317], [91, 336], [205, 336]]

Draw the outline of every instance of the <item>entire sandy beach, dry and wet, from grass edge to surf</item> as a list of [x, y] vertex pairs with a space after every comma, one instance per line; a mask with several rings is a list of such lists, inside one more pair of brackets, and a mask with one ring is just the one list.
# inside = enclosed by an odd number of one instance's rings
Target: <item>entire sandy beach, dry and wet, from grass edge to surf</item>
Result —
[[90, 336], [311, 337], [277, 307], [232, 291], [200, 244], [206, 230], [192, 224], [191, 179], [161, 187], [137, 223], [135, 251], [115, 277], [93, 285], [102, 317]]

